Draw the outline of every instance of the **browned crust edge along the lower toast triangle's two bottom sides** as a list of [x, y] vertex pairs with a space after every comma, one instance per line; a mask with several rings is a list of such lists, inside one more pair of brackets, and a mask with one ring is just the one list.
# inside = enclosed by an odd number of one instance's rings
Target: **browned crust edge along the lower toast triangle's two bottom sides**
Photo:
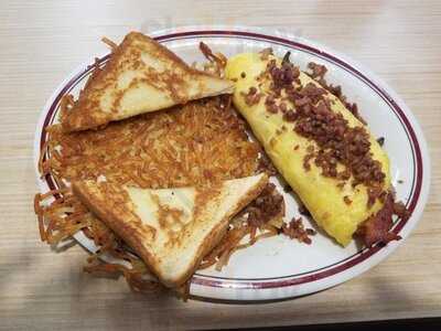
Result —
[[104, 203], [99, 199], [95, 199], [94, 193], [84, 182], [74, 182], [72, 184], [74, 194], [88, 207], [90, 212], [97, 215], [105, 224], [107, 224], [115, 233], [117, 233], [135, 252], [137, 252], [142, 260], [148, 265], [149, 269], [159, 278], [166, 287], [175, 288], [184, 284], [200, 266], [202, 259], [208, 254], [224, 237], [228, 227], [229, 221], [249, 202], [255, 200], [268, 183], [268, 175], [263, 174], [257, 182], [255, 188], [244, 195], [237, 204], [224, 216], [224, 218], [209, 232], [205, 239], [200, 244], [196, 250], [196, 258], [189, 266], [183, 275], [180, 275], [175, 280], [164, 279], [161, 277], [160, 270], [155, 268], [157, 259], [144, 248], [140, 243], [144, 239], [140, 232], [132, 226], [125, 225], [125, 214], [122, 207]]

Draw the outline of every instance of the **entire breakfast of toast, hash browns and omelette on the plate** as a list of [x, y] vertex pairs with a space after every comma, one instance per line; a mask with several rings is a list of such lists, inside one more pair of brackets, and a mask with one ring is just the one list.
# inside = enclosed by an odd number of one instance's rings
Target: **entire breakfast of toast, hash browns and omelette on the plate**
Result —
[[262, 238], [311, 245], [315, 231], [286, 217], [269, 181], [278, 171], [343, 246], [398, 239], [391, 215], [406, 209], [388, 158], [324, 66], [306, 74], [270, 50], [227, 60], [201, 43], [208, 63], [190, 67], [140, 33], [106, 42], [110, 60], [45, 127], [39, 170], [53, 190], [34, 200], [42, 241], [82, 232], [98, 247], [86, 271], [187, 293], [196, 269], [220, 270]]

